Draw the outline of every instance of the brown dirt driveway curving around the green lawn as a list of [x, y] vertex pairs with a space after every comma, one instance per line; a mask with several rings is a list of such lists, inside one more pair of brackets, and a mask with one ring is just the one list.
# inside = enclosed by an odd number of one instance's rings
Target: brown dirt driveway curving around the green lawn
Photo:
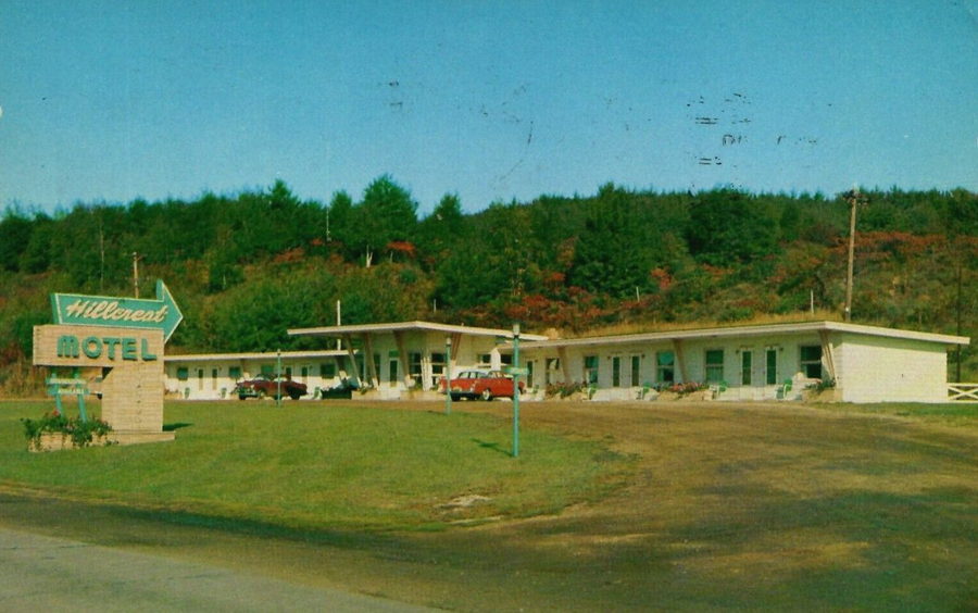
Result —
[[627, 484], [557, 515], [427, 534], [228, 530], [25, 492], [0, 493], [0, 526], [465, 611], [978, 606], [974, 423], [553, 402], [524, 403], [522, 424], [632, 458]]

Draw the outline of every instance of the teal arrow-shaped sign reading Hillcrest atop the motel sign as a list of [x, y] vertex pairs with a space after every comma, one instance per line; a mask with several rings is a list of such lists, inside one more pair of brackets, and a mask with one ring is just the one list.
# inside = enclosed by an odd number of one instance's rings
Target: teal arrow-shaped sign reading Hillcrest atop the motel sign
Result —
[[55, 324], [161, 329], [163, 342], [184, 321], [162, 280], [156, 282], [156, 300], [52, 293], [51, 306]]

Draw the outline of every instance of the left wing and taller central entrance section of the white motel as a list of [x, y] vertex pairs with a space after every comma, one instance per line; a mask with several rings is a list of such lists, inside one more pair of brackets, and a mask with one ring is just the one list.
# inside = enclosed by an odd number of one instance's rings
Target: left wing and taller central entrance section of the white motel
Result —
[[465, 367], [501, 368], [511, 361], [507, 339], [513, 336], [512, 330], [430, 322], [298, 328], [289, 334], [322, 338], [324, 345], [339, 349], [170, 355], [166, 390], [191, 400], [228, 398], [237, 380], [274, 376], [280, 360], [283, 375], [305, 384], [309, 398], [316, 388], [348, 379], [365, 390], [354, 398], [436, 399], [449, 364], [453, 373]]

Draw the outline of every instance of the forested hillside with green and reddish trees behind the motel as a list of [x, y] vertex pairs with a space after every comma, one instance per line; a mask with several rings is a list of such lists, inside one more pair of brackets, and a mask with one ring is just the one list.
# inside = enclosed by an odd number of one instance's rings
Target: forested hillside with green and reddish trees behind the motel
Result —
[[[853, 321], [978, 335], [978, 195], [865, 192]], [[822, 195], [634, 191], [541, 196], [418, 216], [391, 177], [354, 199], [303, 201], [277, 182], [193, 201], [77, 204], [0, 221], [0, 389], [25, 383], [49, 293], [127, 296], [163, 278], [185, 322], [168, 351], [310, 343], [288, 327], [423, 318], [555, 328], [653, 329], [763, 316], [839, 318], [849, 205]], [[978, 379], [974, 352], [963, 378]], [[952, 373], [955, 364], [952, 358]], [[26, 384], [25, 384], [26, 385]]]

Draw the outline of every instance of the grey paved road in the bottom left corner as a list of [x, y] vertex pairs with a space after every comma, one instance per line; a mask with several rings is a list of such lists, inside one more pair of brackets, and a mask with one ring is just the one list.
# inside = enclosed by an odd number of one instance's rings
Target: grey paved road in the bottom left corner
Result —
[[0, 528], [0, 611], [425, 611], [205, 564]]

